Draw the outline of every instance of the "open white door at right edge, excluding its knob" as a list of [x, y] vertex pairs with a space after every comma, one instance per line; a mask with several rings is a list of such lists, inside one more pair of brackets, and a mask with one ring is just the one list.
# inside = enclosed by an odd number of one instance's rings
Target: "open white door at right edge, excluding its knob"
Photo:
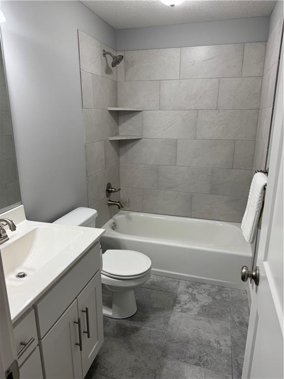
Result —
[[273, 120], [266, 199], [253, 283], [243, 379], [283, 379], [283, 62]]

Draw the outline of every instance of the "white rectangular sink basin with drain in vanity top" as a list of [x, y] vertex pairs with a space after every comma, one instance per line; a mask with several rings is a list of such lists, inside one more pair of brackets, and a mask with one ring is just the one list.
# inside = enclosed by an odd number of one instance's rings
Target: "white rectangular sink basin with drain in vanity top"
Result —
[[[82, 235], [82, 231], [57, 227], [35, 227], [1, 248], [4, 274], [7, 283], [21, 284], [49, 263], [54, 257]], [[16, 278], [25, 272], [24, 278]]]

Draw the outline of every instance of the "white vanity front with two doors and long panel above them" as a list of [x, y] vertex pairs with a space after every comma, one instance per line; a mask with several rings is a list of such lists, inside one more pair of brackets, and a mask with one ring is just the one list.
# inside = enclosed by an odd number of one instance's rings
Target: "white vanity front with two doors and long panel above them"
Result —
[[104, 341], [99, 244], [35, 309], [44, 378], [84, 378]]

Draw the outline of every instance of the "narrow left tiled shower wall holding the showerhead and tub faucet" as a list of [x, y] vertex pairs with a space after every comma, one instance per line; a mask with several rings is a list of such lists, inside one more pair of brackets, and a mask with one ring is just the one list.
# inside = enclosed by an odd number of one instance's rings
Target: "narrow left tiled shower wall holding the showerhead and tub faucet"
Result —
[[[106, 184], [119, 188], [119, 142], [108, 141], [118, 134], [118, 115], [108, 112], [117, 106], [117, 69], [111, 58], [103, 57], [103, 49], [112, 49], [83, 32], [78, 32], [85, 149], [87, 162], [88, 204], [98, 211], [101, 227], [117, 211], [107, 206]], [[110, 199], [118, 199], [119, 193]]]

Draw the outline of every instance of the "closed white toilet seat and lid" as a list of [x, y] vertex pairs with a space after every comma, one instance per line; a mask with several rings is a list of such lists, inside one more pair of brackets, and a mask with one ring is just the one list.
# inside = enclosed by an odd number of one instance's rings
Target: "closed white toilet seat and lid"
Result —
[[106, 250], [102, 274], [114, 279], [136, 279], [151, 270], [151, 260], [133, 250]]

